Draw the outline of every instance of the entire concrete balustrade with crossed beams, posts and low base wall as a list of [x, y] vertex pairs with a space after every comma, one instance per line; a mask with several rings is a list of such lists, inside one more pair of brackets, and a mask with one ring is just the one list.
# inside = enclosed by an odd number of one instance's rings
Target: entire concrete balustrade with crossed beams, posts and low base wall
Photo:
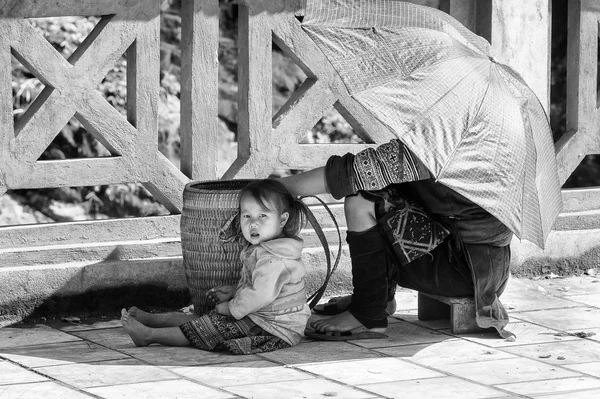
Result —
[[[169, 216], [0, 227], [0, 325], [18, 320], [48, 298], [118, 287], [185, 291], [179, 214], [190, 180], [217, 174], [218, 0], [182, 0], [181, 168], [157, 149], [160, 0], [0, 0], [0, 194], [22, 188], [141, 183]], [[423, 3], [423, 2], [421, 2]], [[597, 51], [600, 7], [569, 1], [568, 133], [556, 145], [562, 182], [587, 154], [599, 153]], [[549, 109], [550, 0], [441, 0], [442, 10], [491, 40], [495, 57], [511, 65]], [[261, 178], [274, 170], [323, 165], [332, 154], [358, 152], [392, 137], [349, 96], [296, 18], [302, 1], [245, 0], [239, 5], [238, 159], [223, 178]], [[103, 16], [65, 60], [25, 20]], [[307, 75], [272, 118], [271, 46], [277, 43]], [[11, 53], [45, 85], [13, 123]], [[96, 91], [115, 61], [128, 60], [127, 117]], [[375, 144], [301, 145], [307, 130], [335, 104]], [[39, 162], [75, 116], [114, 155]], [[542, 251], [513, 243], [513, 267], [571, 259], [597, 266], [600, 190], [565, 190], [565, 211]], [[334, 206], [344, 225], [341, 205]], [[320, 220], [327, 222], [324, 213]], [[331, 226], [328, 226], [331, 228]], [[335, 237], [328, 230], [330, 237]], [[318, 240], [306, 232], [310, 286], [324, 270]], [[342, 233], [342, 238], [344, 234]], [[335, 247], [335, 244], [332, 245]], [[529, 262], [529, 263], [528, 263]], [[350, 286], [347, 250], [330, 293]]]

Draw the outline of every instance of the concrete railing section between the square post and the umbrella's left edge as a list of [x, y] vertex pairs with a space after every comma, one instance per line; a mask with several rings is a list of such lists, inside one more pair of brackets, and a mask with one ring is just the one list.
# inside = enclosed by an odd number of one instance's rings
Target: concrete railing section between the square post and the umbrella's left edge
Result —
[[[281, 9], [281, 8], [280, 8]], [[366, 142], [393, 137], [346, 89], [331, 64], [301, 29], [294, 9], [261, 13], [257, 4], [240, 6], [239, 158], [226, 177], [264, 175], [276, 169], [309, 169], [332, 154], [356, 152], [364, 145], [299, 144], [325, 112], [334, 106]], [[272, 43], [302, 68], [307, 79], [271, 118]]]

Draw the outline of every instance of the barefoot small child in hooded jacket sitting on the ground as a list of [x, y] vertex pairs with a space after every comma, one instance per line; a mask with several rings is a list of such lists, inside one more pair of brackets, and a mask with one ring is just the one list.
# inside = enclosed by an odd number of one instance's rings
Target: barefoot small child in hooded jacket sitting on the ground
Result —
[[310, 317], [296, 235], [306, 206], [277, 180], [258, 180], [240, 193], [240, 225], [248, 245], [236, 286], [212, 288], [208, 314], [151, 314], [132, 307], [121, 323], [137, 346], [158, 343], [228, 349], [234, 354], [270, 352], [298, 344]]

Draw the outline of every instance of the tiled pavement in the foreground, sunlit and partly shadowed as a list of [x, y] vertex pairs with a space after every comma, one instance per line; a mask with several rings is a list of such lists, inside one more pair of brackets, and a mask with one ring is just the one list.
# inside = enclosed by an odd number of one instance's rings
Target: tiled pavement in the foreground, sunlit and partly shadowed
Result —
[[452, 335], [417, 320], [414, 292], [397, 300], [388, 339], [252, 356], [136, 348], [117, 320], [6, 327], [0, 398], [600, 398], [598, 278], [512, 279], [515, 342]]

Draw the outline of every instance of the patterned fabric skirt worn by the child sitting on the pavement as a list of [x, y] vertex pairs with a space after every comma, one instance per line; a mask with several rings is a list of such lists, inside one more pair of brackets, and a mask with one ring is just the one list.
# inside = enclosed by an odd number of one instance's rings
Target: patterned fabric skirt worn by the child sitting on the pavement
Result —
[[207, 351], [229, 350], [234, 355], [251, 355], [291, 346], [254, 324], [248, 317], [236, 320], [214, 310], [179, 328], [192, 345]]

